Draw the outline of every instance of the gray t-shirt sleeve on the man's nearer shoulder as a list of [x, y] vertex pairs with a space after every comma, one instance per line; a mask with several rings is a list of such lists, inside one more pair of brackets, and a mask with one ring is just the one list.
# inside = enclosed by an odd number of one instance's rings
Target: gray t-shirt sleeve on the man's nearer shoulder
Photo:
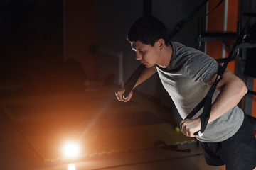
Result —
[[185, 62], [183, 69], [189, 79], [207, 83], [218, 72], [219, 64], [203, 52], [191, 54]]

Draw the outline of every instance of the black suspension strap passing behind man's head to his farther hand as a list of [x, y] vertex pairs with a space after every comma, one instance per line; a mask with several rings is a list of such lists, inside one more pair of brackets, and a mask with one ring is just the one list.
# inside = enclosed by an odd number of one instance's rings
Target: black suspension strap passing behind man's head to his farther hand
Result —
[[[182, 28], [184, 28], [186, 26], [186, 24], [188, 23], [188, 21], [193, 20], [193, 17], [196, 15], [196, 13], [198, 13], [198, 11], [206, 4], [208, 0], [203, 0], [201, 2], [201, 4], [199, 4], [196, 9], [190, 13], [188, 15], [187, 18], [182, 19], [181, 21], [178, 21], [178, 23], [176, 23], [176, 26], [174, 27], [174, 29], [171, 31], [171, 33], [169, 33], [169, 40], [171, 40], [172, 38], [174, 38], [174, 36], [179, 33], [181, 31]], [[217, 8], [224, 0], [220, 0], [220, 2], [217, 4], [217, 6], [215, 6], [215, 8]], [[213, 10], [215, 10], [215, 8], [213, 8]], [[212, 10], [212, 11], [213, 11]], [[210, 12], [212, 12], [210, 11]], [[209, 13], [208, 13], [209, 14]], [[208, 15], [206, 14], [206, 15]], [[129, 77], [129, 79], [125, 82], [124, 84], [124, 94], [122, 96], [122, 98], [127, 99], [128, 95], [131, 93], [132, 89], [134, 88], [134, 85], [136, 84], [137, 80], [139, 79], [140, 74], [142, 74], [144, 70], [144, 65], [140, 64], [140, 66], [135, 70], [135, 72], [132, 74], [131, 77]]]

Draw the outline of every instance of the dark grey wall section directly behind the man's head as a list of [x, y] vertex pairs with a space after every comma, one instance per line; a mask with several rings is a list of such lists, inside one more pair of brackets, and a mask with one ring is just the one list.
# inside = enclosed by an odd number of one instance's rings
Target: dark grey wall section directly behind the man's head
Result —
[[[178, 21], [186, 18], [200, 3], [199, 0], [152, 0], [152, 15], [163, 21], [167, 29], [171, 31]], [[196, 16], [203, 16], [205, 13], [206, 6]], [[132, 23], [142, 15], [143, 0], [95, 0], [95, 44], [107, 45], [124, 52], [124, 80], [127, 80], [139, 66], [125, 38]], [[197, 24], [197, 20], [191, 21], [173, 40], [190, 47], [197, 47], [195, 41], [198, 33]], [[156, 98], [161, 98], [163, 95], [157, 75], [151, 77], [146, 84], [138, 86], [138, 89]]]

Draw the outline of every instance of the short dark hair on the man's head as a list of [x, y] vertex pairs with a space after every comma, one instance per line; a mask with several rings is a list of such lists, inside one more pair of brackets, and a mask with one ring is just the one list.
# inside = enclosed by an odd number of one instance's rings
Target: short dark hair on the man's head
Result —
[[138, 18], [127, 34], [127, 40], [129, 42], [140, 41], [152, 47], [161, 38], [164, 39], [166, 45], [169, 45], [169, 33], [166, 26], [154, 16], [142, 16]]

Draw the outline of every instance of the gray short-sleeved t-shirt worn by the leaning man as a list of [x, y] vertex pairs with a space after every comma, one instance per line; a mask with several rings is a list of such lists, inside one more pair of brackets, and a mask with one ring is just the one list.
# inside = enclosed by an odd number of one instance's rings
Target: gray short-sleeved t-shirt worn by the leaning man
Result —
[[[173, 55], [169, 67], [156, 67], [166, 91], [168, 91], [181, 118], [186, 116], [206, 96], [208, 80], [218, 72], [218, 62], [206, 53], [178, 42], [171, 42]], [[213, 102], [219, 92], [215, 91]], [[203, 108], [193, 118], [198, 118]], [[201, 142], [220, 142], [232, 137], [242, 125], [244, 113], [235, 106], [220, 118], [208, 123]]]

